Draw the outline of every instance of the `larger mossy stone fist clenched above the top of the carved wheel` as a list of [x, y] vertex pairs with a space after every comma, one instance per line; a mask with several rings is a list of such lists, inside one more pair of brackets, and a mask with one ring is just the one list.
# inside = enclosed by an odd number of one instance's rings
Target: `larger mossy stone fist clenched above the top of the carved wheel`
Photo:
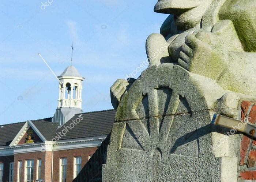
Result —
[[221, 36], [201, 31], [186, 36], [178, 64], [190, 72], [216, 80], [227, 66], [228, 56]]

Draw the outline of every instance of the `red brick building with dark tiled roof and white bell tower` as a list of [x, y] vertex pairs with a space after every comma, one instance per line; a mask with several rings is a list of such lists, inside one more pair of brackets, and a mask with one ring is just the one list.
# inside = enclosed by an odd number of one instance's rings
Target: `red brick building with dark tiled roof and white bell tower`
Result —
[[76, 68], [58, 78], [52, 118], [0, 125], [0, 182], [71, 182], [111, 131], [114, 110], [82, 112]]

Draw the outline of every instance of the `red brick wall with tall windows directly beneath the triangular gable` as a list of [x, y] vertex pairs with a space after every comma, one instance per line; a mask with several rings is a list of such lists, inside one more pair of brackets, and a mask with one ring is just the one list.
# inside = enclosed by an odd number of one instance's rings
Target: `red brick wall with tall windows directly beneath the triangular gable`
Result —
[[41, 178], [45, 181], [51, 181], [51, 170], [52, 170], [52, 152], [32, 152], [14, 155], [14, 179], [17, 181], [18, 173], [18, 161], [22, 161], [22, 181], [25, 176], [25, 163], [27, 159], [34, 159], [34, 180], [37, 179], [37, 159], [41, 159]]

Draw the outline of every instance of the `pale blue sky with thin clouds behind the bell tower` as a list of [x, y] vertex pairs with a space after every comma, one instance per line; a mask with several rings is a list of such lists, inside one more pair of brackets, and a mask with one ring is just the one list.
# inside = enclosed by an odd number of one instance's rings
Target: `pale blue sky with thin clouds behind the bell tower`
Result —
[[59, 83], [38, 52], [60, 75], [72, 41], [83, 111], [112, 109], [109, 88], [147, 59], [145, 41], [167, 17], [154, 13], [157, 0], [41, 2], [1, 0], [0, 124], [53, 116]]

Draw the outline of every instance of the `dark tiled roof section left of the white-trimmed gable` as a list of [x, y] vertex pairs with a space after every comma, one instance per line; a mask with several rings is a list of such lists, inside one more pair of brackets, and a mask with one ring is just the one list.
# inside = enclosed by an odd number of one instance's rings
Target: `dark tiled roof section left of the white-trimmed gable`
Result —
[[10, 145], [26, 122], [0, 125], [0, 146]]

